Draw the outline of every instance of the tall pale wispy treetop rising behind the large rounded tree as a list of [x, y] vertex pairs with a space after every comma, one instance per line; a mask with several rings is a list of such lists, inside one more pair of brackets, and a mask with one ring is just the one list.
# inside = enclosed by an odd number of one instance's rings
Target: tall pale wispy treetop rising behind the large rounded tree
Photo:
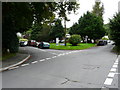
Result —
[[97, 16], [102, 17], [104, 14], [104, 5], [101, 3], [101, 1], [95, 1], [95, 5], [93, 6], [92, 13], [96, 14]]

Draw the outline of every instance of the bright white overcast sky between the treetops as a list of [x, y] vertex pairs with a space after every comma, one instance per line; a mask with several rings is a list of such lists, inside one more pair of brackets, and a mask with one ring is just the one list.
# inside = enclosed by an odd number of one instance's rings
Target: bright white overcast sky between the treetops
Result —
[[[112, 18], [113, 15], [116, 14], [116, 12], [118, 12], [119, 1], [120, 0], [101, 0], [101, 2], [104, 4], [104, 9], [105, 9], [103, 15], [105, 24], [109, 22], [109, 18]], [[68, 15], [70, 21], [66, 23], [67, 28], [71, 27], [73, 23], [77, 22], [81, 15], [83, 15], [87, 11], [92, 11], [92, 8], [95, 4], [95, 0], [79, 0], [79, 2], [80, 2], [80, 8], [77, 10], [78, 14]]]

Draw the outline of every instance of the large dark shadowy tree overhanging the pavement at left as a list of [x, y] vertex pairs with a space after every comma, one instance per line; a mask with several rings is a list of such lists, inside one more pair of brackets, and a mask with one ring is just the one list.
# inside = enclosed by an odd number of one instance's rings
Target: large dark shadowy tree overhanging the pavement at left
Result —
[[11, 53], [18, 51], [17, 32], [31, 28], [33, 22], [42, 23], [53, 16], [56, 3], [51, 2], [3, 2], [2, 3], [2, 48]]

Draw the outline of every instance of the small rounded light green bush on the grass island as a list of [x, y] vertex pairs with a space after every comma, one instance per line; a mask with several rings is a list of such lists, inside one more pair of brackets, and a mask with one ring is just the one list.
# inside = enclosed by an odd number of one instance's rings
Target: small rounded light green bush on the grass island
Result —
[[72, 44], [72, 46], [77, 46], [78, 43], [81, 41], [81, 36], [80, 35], [72, 35], [69, 38], [69, 43]]

